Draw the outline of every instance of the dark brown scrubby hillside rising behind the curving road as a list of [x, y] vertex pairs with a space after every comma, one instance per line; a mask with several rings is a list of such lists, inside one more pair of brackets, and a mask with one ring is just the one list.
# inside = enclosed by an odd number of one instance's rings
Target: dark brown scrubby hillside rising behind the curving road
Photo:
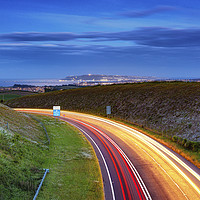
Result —
[[200, 83], [152, 82], [87, 87], [22, 97], [11, 107], [52, 108], [112, 116], [140, 126], [200, 140]]

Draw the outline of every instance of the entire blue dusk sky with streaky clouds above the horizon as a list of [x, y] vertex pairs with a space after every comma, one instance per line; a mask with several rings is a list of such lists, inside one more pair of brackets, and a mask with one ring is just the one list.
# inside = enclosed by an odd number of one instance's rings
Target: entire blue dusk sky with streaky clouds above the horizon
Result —
[[200, 78], [199, 0], [0, 0], [0, 79]]

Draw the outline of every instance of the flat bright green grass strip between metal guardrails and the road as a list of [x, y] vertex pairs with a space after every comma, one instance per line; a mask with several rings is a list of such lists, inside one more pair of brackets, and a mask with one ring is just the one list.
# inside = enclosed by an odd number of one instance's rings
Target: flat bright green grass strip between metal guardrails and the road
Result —
[[38, 200], [103, 199], [98, 160], [85, 136], [65, 122], [38, 116], [50, 137], [44, 168], [49, 168]]

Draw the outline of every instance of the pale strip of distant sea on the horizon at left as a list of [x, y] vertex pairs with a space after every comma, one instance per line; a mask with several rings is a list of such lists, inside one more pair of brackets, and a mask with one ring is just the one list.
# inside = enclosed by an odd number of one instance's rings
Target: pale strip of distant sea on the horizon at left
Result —
[[0, 87], [11, 87], [14, 84], [35, 85], [35, 86], [50, 86], [50, 85], [68, 85], [73, 84], [72, 81], [59, 81], [59, 79], [0, 79]]

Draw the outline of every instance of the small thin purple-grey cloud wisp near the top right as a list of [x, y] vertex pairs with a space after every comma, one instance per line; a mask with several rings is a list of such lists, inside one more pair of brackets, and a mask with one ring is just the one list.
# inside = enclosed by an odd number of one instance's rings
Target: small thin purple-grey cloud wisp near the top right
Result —
[[176, 7], [172, 6], [158, 6], [149, 10], [141, 10], [141, 11], [126, 11], [122, 12], [119, 15], [123, 17], [129, 18], [139, 18], [139, 17], [147, 17], [157, 13], [171, 11], [177, 9]]

